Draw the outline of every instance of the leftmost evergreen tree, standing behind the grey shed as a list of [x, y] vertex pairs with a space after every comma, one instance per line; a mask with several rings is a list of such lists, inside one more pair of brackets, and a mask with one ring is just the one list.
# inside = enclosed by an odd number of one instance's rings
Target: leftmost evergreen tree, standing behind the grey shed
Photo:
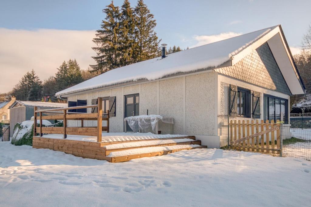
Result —
[[27, 72], [12, 90], [17, 100], [39, 101], [41, 97], [42, 81], [35, 71]]

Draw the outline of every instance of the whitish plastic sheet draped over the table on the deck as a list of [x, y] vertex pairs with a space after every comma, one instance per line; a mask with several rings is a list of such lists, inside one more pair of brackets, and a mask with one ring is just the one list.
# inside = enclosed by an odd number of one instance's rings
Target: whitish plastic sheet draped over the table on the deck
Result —
[[148, 128], [152, 127], [152, 131], [156, 131], [156, 124], [159, 121], [165, 123], [174, 123], [174, 119], [170, 117], [162, 117], [160, 115], [140, 115], [134, 117], [126, 117], [124, 121], [128, 122], [128, 126], [131, 127], [133, 132], [138, 132], [141, 130], [147, 130]]

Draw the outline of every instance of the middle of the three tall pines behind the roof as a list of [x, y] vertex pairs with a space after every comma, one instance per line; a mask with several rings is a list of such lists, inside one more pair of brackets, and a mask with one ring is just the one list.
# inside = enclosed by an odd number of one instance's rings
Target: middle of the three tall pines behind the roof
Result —
[[121, 7], [121, 47], [122, 57], [120, 60], [121, 66], [126, 66], [134, 63], [133, 51], [136, 47], [135, 43], [135, 19], [134, 9], [130, 2], [125, 0]]

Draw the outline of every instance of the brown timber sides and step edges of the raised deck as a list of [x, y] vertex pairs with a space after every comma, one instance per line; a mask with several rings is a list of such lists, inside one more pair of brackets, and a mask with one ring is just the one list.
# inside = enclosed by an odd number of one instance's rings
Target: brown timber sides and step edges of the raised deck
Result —
[[[144, 142], [151, 140], [176, 140], [176, 139], [191, 139], [185, 142], [176, 142], [176, 143], [167, 143], [167, 144], [156, 144], [156, 145], [144, 145], [144, 146], [134, 146], [134, 147], [123, 147], [116, 149], [106, 149], [105, 146], [128, 143], [128, 142]], [[141, 154], [131, 154], [125, 156], [109, 157], [111, 152], [131, 150], [138, 148], [149, 148], [149, 147], [158, 147], [158, 146], [172, 146], [172, 145], [200, 145], [195, 147], [186, 147], [181, 149], [174, 150], [162, 150], [151, 153], [141, 153]], [[172, 137], [172, 138], [160, 138], [160, 139], [148, 139], [148, 140], [132, 140], [132, 141], [116, 141], [116, 142], [91, 142], [91, 141], [78, 141], [78, 140], [68, 140], [68, 139], [54, 139], [54, 138], [45, 138], [40, 136], [33, 137], [33, 148], [37, 149], [50, 149], [55, 151], [61, 151], [67, 154], [72, 154], [82, 158], [90, 159], [99, 159], [107, 160], [109, 162], [125, 162], [131, 159], [137, 159], [142, 157], [153, 157], [160, 156], [169, 153], [174, 153], [180, 150], [191, 150], [196, 148], [207, 148], [207, 146], [201, 146], [200, 140], [195, 140], [194, 136], [186, 137]]]

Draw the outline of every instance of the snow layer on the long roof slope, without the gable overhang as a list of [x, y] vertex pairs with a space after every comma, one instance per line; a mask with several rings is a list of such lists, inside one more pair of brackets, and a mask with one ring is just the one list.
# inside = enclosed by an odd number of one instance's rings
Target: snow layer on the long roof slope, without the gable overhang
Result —
[[[152, 81], [178, 73], [196, 72], [202, 69], [211, 70], [233, 60], [234, 56], [241, 53], [245, 48], [248, 48], [278, 26], [276, 25], [218, 42], [171, 53], [166, 58], [153, 58], [116, 68], [59, 91], [56, 93], [56, 96], [143, 79]], [[230, 62], [230, 64], [232, 63]]]

